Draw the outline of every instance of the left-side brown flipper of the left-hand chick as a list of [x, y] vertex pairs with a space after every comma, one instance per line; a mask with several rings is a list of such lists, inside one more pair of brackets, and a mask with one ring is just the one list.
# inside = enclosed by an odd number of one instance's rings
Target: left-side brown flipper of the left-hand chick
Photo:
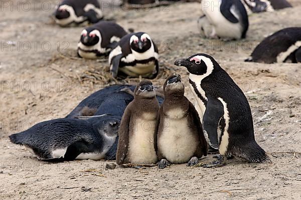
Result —
[[118, 146], [116, 152], [116, 163], [119, 165], [124, 164], [123, 161], [127, 154], [130, 115], [131, 115], [130, 109], [127, 106], [121, 118], [119, 132], [118, 132], [119, 138], [118, 138]]

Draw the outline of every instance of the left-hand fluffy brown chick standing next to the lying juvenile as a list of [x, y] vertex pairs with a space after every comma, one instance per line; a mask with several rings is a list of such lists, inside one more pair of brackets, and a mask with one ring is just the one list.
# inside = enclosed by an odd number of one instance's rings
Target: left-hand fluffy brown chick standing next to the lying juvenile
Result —
[[134, 90], [134, 100], [126, 107], [118, 132], [117, 164], [157, 162], [156, 134], [159, 102], [154, 85], [144, 80]]

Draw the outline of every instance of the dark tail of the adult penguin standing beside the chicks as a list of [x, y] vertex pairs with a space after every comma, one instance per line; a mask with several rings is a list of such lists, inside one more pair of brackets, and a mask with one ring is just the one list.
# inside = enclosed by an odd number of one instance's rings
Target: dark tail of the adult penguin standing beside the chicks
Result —
[[249, 162], [262, 163], [271, 161], [266, 152], [256, 143], [256, 141], [248, 143], [238, 151], [239, 153], [235, 154], [237, 154], [238, 157], [248, 160]]

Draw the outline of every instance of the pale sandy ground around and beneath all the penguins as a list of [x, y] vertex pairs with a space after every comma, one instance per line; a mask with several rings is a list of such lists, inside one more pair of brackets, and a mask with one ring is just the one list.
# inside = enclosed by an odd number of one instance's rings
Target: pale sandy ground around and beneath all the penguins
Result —
[[[64, 117], [84, 97], [113, 82], [89, 75], [107, 71], [106, 62], [76, 58], [82, 27], [52, 23], [57, 1], [38, 1], [36, 7], [32, 2], [28, 11], [26, 2], [14, 1], [19, 11], [13, 2], [0, 2], [1, 199], [301, 199], [301, 154], [293, 153], [301, 152], [301, 65], [243, 61], [266, 35], [301, 25], [299, 0], [290, 1], [293, 8], [251, 14], [247, 38], [231, 42], [199, 37], [196, 2], [145, 11], [106, 9], [106, 16], [125, 28], [148, 32], [160, 47], [161, 65], [181, 73], [186, 85], [187, 72], [173, 66], [174, 60], [197, 52], [213, 55], [245, 92], [255, 138], [272, 160], [253, 164], [235, 159], [214, 169], [180, 164], [164, 170], [106, 170], [109, 162], [93, 160], [45, 163], [10, 143], [11, 133]], [[159, 77], [156, 84], [166, 76]], [[188, 87], [186, 93], [192, 99]]]

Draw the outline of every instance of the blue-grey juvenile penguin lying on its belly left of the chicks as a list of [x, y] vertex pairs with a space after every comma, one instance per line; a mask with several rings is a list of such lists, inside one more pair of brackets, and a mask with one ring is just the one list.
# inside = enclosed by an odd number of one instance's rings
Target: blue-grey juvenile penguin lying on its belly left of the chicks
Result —
[[120, 118], [109, 115], [87, 120], [59, 118], [40, 122], [10, 139], [45, 161], [114, 159], [111, 146], [119, 122]]

